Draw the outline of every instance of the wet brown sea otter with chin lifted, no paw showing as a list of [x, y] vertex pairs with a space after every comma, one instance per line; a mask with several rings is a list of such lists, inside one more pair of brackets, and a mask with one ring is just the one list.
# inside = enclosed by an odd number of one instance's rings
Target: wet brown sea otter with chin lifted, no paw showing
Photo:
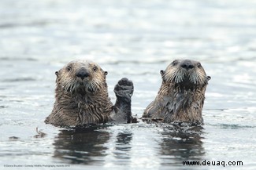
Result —
[[210, 76], [195, 60], [174, 60], [160, 71], [162, 83], [158, 95], [144, 110], [150, 121], [187, 122], [202, 125], [202, 107]]

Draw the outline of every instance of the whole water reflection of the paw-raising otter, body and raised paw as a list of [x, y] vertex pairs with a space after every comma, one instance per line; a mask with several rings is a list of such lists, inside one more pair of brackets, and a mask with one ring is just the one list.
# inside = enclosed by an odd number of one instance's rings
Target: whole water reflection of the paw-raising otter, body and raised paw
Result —
[[113, 137], [116, 142], [114, 150], [110, 152], [117, 160], [115, 163], [124, 165], [126, 162], [127, 164], [130, 158], [128, 151], [132, 148], [129, 144], [132, 133], [119, 132], [117, 136], [112, 136], [113, 134], [107, 130], [102, 127], [62, 130], [54, 142], [54, 157], [61, 161], [69, 161], [70, 164], [104, 165], [110, 147], [105, 144], [112, 143], [109, 139]]

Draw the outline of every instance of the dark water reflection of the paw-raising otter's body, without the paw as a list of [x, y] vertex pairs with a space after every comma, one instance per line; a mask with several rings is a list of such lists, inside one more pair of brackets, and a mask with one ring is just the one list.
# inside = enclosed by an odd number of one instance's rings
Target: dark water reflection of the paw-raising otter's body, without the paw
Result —
[[97, 128], [62, 130], [55, 140], [54, 157], [69, 160], [71, 164], [95, 165], [104, 161], [109, 132]]

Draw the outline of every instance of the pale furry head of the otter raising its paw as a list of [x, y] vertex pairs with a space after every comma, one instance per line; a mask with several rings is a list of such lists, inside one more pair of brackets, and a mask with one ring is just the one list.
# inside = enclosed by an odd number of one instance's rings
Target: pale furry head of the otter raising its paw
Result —
[[72, 61], [55, 74], [58, 88], [66, 92], [96, 92], [106, 87], [107, 71], [91, 61]]

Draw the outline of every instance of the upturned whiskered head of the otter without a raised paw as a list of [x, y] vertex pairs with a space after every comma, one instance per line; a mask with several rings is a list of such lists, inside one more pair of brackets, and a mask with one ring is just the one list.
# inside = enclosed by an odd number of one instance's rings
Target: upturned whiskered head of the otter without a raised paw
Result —
[[180, 85], [185, 89], [204, 86], [210, 80], [201, 63], [194, 60], [174, 60], [165, 71], [161, 71], [163, 81]]

